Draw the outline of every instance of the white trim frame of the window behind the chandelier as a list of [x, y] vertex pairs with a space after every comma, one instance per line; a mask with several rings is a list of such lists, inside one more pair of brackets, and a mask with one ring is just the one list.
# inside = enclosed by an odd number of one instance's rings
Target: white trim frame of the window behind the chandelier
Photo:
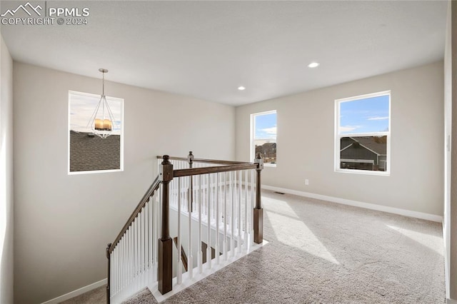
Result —
[[111, 173], [111, 172], [122, 172], [124, 171], [124, 98], [116, 98], [116, 97], [110, 97], [106, 96], [107, 101], [121, 101], [121, 155], [120, 157], [120, 166], [119, 169], [110, 169], [110, 170], [94, 170], [94, 171], [70, 171], [70, 113], [71, 113], [71, 108], [70, 108], [70, 96], [71, 95], [80, 95], [80, 96], [87, 96], [87, 97], [95, 97], [95, 98], [100, 98], [99, 94], [92, 94], [92, 93], [85, 93], [85, 92], [79, 92], [79, 91], [69, 91], [69, 97], [67, 101], [67, 106], [68, 106], [68, 126], [67, 126], [67, 132], [68, 132], [68, 146], [66, 149], [66, 153], [68, 154], [67, 158], [67, 163], [68, 163], [68, 168], [67, 168], [67, 173], [68, 175], [81, 175], [81, 174], [94, 174], [94, 173]]

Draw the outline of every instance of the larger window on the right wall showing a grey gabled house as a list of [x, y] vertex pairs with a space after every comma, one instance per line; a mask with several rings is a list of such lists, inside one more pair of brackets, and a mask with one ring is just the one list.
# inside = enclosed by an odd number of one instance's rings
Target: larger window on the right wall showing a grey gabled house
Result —
[[390, 174], [391, 92], [335, 103], [335, 170]]

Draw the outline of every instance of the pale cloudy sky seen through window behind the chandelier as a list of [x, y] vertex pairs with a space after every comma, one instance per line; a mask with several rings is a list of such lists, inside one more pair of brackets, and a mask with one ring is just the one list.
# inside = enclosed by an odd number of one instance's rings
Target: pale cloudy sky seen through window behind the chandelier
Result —
[[[121, 134], [121, 108], [120, 100], [106, 97], [109, 103], [111, 112], [114, 116], [113, 133], [114, 135]], [[97, 103], [100, 101], [100, 96], [81, 95], [78, 93], [70, 93], [70, 130], [79, 132], [92, 132], [91, 126], [87, 126], [89, 119], [94, 113]], [[100, 113], [100, 112], [99, 112]]]

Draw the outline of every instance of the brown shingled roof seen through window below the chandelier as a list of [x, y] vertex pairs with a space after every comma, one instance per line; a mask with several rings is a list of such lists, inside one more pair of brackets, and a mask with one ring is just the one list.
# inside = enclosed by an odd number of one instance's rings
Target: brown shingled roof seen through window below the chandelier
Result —
[[70, 172], [121, 168], [121, 136], [70, 131]]

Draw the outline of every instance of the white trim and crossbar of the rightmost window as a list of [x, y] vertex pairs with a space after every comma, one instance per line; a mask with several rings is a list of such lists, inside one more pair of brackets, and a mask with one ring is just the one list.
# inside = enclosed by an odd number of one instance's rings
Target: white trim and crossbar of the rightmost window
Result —
[[[385, 96], [388, 95], [388, 131], [386, 132], [373, 132], [373, 133], [339, 133], [339, 126], [340, 126], [340, 104], [345, 101], [357, 101], [360, 99], [378, 97], [378, 96]], [[335, 100], [335, 151], [333, 152], [334, 155], [334, 171], [337, 173], [356, 173], [356, 174], [366, 174], [366, 175], [373, 175], [373, 176], [390, 176], [391, 175], [391, 91], [381, 91], [377, 93], [369, 93], [364, 95], [358, 95], [353, 97], [347, 98], [339, 98]], [[356, 169], [344, 169], [340, 168], [340, 150], [341, 150], [341, 137], [359, 137], [359, 136], [387, 136], [387, 168], [386, 171], [367, 171], [367, 170], [356, 170]]]

